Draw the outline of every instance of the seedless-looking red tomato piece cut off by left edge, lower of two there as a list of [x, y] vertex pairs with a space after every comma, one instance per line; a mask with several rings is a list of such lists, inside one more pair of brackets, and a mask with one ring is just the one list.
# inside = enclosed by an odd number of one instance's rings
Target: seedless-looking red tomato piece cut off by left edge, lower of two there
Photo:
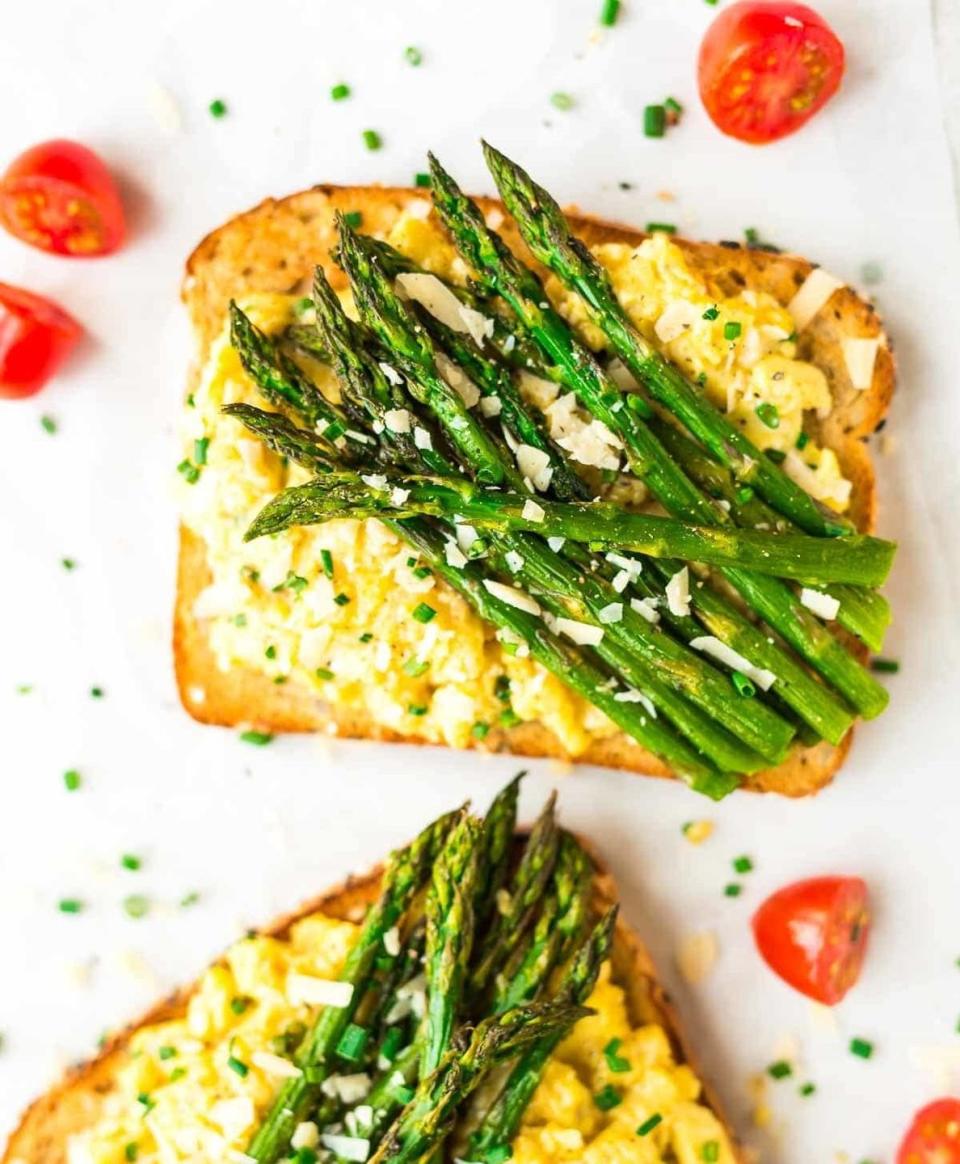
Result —
[[0, 396], [38, 392], [81, 335], [55, 303], [0, 283]]

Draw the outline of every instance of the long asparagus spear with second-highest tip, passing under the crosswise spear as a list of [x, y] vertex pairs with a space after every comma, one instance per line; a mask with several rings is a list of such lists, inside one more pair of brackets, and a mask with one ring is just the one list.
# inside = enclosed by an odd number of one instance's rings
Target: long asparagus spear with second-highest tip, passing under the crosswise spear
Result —
[[[683, 475], [640, 419], [640, 412], [649, 414], [649, 406], [638, 396], [624, 400], [592, 354], [550, 307], [536, 275], [488, 228], [477, 207], [433, 155], [431, 182], [434, 207], [457, 249], [481, 272], [490, 289], [509, 303], [524, 329], [547, 353], [564, 384], [576, 392], [588, 411], [624, 440], [634, 474], [674, 516], [704, 525], [730, 524], [726, 512]], [[888, 693], [801, 605], [784, 583], [731, 567], [723, 573], [746, 602], [858, 711], [872, 718], [883, 710]]]

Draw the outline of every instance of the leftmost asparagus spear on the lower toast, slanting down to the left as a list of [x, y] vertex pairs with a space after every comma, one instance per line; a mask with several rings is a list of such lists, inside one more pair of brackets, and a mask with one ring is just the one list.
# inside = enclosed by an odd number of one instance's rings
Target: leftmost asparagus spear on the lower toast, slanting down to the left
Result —
[[406, 849], [390, 858], [381, 896], [367, 914], [340, 975], [342, 982], [353, 987], [350, 1001], [342, 1007], [325, 1007], [314, 1022], [298, 1053], [298, 1063], [304, 1073], [283, 1085], [247, 1149], [247, 1155], [259, 1164], [272, 1164], [279, 1159], [290, 1145], [290, 1137], [297, 1124], [319, 1099], [320, 1083], [326, 1078], [329, 1060], [353, 1017], [374, 960], [382, 949], [383, 937], [398, 923], [414, 895], [426, 883], [456, 815], [448, 812], [441, 816], [427, 825]]

